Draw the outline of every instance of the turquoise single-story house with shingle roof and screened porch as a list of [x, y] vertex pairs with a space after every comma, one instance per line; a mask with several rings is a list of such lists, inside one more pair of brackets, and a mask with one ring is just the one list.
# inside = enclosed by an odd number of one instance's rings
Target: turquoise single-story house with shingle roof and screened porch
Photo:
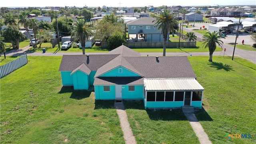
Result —
[[202, 108], [204, 88], [187, 56], [145, 57], [122, 45], [106, 54], [63, 55], [62, 85], [94, 86], [96, 100], [143, 100], [145, 109]]

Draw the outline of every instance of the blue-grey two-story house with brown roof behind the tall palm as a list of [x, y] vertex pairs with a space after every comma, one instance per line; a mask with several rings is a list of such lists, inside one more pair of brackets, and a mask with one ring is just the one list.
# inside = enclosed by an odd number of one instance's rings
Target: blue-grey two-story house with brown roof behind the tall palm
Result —
[[156, 20], [156, 18], [143, 17], [127, 22], [128, 36], [130, 34], [136, 34], [137, 41], [138, 37], [144, 37], [144, 40], [147, 42], [163, 42], [164, 38], [161, 34], [161, 30], [158, 30], [158, 28], [154, 26], [155, 22], [152, 22], [154, 20]]

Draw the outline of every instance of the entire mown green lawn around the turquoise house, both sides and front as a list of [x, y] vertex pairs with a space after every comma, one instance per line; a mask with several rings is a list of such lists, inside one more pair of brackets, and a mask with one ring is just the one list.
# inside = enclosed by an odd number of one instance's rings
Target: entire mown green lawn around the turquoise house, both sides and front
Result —
[[[204, 109], [196, 116], [213, 144], [256, 143], [256, 65], [229, 56], [188, 59], [204, 87]], [[114, 101], [95, 101], [94, 92], [62, 87], [60, 61], [61, 56], [28, 56], [28, 64], [1, 78], [1, 142], [124, 143]], [[138, 144], [199, 143], [179, 110], [124, 104]], [[252, 138], [227, 140], [226, 133]]]

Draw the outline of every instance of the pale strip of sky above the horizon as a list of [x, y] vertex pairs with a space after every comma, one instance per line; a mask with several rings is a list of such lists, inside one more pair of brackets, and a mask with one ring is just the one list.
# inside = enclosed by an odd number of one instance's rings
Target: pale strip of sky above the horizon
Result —
[[144, 6], [220, 6], [256, 5], [256, 0], [2, 0], [0, 7], [45, 7], [45, 6], [76, 6], [76, 7], [144, 7]]

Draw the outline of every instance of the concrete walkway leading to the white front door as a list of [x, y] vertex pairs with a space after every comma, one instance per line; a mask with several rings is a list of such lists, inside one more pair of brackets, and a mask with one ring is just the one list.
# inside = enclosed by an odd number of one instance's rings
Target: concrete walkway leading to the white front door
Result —
[[116, 102], [114, 104], [116, 108], [116, 112], [118, 114], [120, 125], [122, 128], [122, 131], [124, 133], [124, 140], [126, 144], [136, 144], [135, 137], [132, 134], [132, 129], [130, 127], [130, 124], [128, 122], [127, 114], [124, 109], [124, 104], [122, 102]]

